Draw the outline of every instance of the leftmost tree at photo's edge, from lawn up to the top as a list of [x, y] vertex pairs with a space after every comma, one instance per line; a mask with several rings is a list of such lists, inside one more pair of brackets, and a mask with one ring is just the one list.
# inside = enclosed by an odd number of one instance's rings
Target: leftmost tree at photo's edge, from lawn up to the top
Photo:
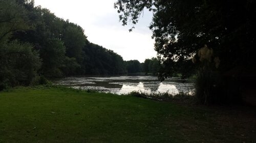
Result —
[[15, 1], [0, 1], [0, 90], [28, 85], [41, 62], [29, 43], [13, 40], [13, 33], [29, 29], [27, 11]]

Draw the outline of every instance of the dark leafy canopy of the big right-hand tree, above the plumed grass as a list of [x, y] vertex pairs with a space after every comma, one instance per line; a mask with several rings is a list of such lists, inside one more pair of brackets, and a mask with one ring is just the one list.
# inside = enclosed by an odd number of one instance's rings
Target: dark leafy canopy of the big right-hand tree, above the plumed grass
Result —
[[[247, 52], [255, 44], [254, 1], [119, 0], [115, 8], [121, 13], [123, 24], [129, 19], [136, 24], [144, 8], [153, 11], [150, 28], [156, 40], [155, 49], [164, 63], [189, 60], [204, 45], [214, 50], [223, 69], [252, 58]], [[249, 57], [239, 56], [244, 55], [240, 52]]]

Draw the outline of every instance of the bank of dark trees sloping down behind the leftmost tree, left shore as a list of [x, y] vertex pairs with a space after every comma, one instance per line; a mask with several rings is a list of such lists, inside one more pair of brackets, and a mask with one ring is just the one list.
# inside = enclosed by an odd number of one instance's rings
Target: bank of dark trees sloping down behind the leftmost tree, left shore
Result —
[[[27, 3], [22, 3], [27, 6]], [[84, 74], [123, 74], [124, 61], [117, 53], [90, 43], [77, 24], [56, 17], [47, 9], [27, 9], [32, 30], [14, 38], [35, 45], [42, 59], [39, 74], [62, 77]]]

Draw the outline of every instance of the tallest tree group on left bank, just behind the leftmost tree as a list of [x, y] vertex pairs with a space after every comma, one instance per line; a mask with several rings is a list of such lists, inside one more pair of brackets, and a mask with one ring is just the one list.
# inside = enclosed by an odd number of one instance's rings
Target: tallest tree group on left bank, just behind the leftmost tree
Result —
[[40, 74], [46, 77], [77, 74], [81, 64], [78, 64], [81, 60], [81, 47], [87, 40], [81, 27], [56, 17], [48, 9], [34, 7], [22, 0], [20, 4], [27, 8], [29, 24], [33, 28], [26, 32], [16, 32], [14, 38], [32, 43], [39, 50], [43, 62]]

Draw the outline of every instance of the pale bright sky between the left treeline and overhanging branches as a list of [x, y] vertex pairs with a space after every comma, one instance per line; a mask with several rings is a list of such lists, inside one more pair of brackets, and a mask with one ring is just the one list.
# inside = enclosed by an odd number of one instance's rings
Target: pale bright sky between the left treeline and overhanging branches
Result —
[[35, 6], [49, 9], [57, 17], [69, 19], [84, 29], [88, 40], [111, 49], [123, 60], [139, 60], [156, 57], [152, 32], [148, 28], [152, 13], [144, 11], [133, 32], [132, 25], [122, 26], [114, 3], [117, 0], [35, 0]]

